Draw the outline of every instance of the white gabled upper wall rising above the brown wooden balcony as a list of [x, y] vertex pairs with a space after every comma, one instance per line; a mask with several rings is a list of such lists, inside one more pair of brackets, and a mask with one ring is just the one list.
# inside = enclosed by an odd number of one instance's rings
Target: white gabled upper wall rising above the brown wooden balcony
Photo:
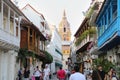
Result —
[[40, 32], [47, 37], [49, 34], [49, 26], [43, 14], [35, 10], [30, 4], [23, 7], [22, 12], [26, 17], [40, 30]]

